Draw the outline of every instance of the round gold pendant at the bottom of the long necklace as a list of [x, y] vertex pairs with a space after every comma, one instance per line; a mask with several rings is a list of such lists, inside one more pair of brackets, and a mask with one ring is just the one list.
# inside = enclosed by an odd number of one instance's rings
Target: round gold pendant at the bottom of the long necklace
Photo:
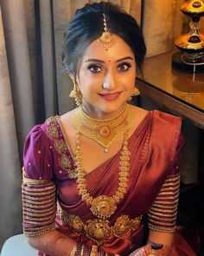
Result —
[[109, 218], [117, 208], [115, 200], [106, 195], [100, 195], [93, 199], [91, 205], [92, 213], [102, 219]]

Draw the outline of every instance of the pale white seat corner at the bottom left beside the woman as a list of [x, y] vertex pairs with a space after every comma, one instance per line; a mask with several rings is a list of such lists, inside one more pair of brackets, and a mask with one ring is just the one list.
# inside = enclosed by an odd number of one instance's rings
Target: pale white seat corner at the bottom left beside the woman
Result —
[[1, 256], [37, 256], [37, 251], [29, 246], [24, 234], [16, 234], [3, 244]]

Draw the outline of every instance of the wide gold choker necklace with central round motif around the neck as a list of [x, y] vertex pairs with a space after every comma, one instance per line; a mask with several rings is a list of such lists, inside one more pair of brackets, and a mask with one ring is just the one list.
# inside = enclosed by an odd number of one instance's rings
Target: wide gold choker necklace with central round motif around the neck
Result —
[[80, 106], [73, 115], [73, 124], [80, 134], [96, 141], [108, 152], [108, 147], [119, 135], [130, 128], [132, 110], [128, 104], [124, 105], [122, 112], [112, 119], [99, 120], [86, 115]]

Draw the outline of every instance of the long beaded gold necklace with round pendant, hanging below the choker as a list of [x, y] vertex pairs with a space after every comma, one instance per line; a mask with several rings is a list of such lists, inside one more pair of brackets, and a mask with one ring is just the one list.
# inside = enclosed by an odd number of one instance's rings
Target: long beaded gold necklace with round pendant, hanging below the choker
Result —
[[85, 200], [86, 204], [91, 206], [90, 209], [92, 213], [103, 220], [109, 218], [115, 212], [118, 202], [124, 198], [124, 194], [126, 193], [130, 160], [130, 152], [127, 148], [127, 140], [128, 131], [124, 133], [124, 142], [119, 163], [119, 182], [116, 193], [113, 194], [112, 197], [102, 194], [96, 198], [92, 198], [86, 189], [86, 174], [81, 161], [80, 132], [77, 132], [75, 161], [77, 166], [76, 183], [79, 189], [79, 194], [81, 195], [82, 200]]

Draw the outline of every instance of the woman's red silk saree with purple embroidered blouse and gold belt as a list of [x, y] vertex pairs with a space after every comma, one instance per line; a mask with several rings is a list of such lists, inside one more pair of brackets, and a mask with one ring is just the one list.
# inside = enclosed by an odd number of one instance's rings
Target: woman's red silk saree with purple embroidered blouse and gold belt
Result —
[[[180, 129], [181, 120], [175, 116], [157, 110], [146, 115], [128, 140], [131, 159], [126, 193], [105, 224], [81, 200], [74, 178], [74, 157], [60, 118], [51, 117], [44, 124], [35, 126], [24, 148], [25, 234], [39, 235], [55, 228], [87, 245], [97, 243], [107, 253], [128, 255], [145, 245], [147, 223], [150, 229], [174, 232], [179, 194], [178, 161], [182, 147]], [[86, 174], [86, 187], [92, 198], [115, 194], [120, 151]], [[45, 187], [49, 188], [45, 190]], [[42, 190], [48, 192], [41, 194]], [[163, 207], [166, 213], [161, 214]], [[188, 248], [188, 244], [185, 246]], [[183, 254], [175, 247], [172, 252], [175, 256], [195, 255]]]

